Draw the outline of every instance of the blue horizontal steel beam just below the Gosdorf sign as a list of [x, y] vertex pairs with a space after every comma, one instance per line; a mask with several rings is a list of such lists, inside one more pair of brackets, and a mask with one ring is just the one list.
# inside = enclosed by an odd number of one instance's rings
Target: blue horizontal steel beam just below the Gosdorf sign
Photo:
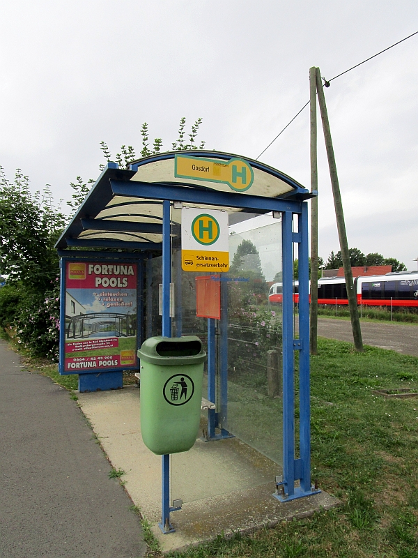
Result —
[[226, 207], [238, 207], [257, 211], [293, 211], [300, 213], [301, 202], [277, 197], [251, 196], [203, 188], [187, 188], [185, 186], [167, 186], [159, 183], [139, 181], [111, 180], [114, 195], [127, 197], [146, 197], [150, 199], [173, 199], [179, 202], [210, 204]]

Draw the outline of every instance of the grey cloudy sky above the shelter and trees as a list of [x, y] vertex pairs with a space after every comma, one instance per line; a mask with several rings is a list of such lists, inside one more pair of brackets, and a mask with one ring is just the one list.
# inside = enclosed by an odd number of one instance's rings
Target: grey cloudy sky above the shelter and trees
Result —
[[[416, 0], [3, 0], [0, 165], [33, 189], [98, 176], [99, 142], [165, 149], [201, 116], [210, 149], [256, 158], [330, 79], [418, 31]], [[325, 89], [350, 246], [417, 269], [418, 36]], [[309, 110], [261, 160], [309, 187]], [[339, 250], [319, 137], [320, 255]]]

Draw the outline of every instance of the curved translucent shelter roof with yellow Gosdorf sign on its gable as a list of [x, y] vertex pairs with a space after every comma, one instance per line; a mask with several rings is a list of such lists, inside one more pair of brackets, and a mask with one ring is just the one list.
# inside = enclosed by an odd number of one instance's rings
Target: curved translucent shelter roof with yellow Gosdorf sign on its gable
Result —
[[[147, 197], [133, 192], [138, 184], [148, 187]], [[160, 250], [162, 201], [148, 197], [152, 195], [153, 186], [192, 187], [206, 192], [215, 190], [269, 198], [311, 197], [308, 190], [283, 172], [231, 153], [173, 151], [134, 161], [129, 170], [108, 163], [56, 248]], [[187, 206], [210, 208], [207, 203], [188, 203]], [[242, 211], [232, 204], [223, 209], [229, 213]], [[176, 234], [176, 225], [180, 227], [180, 223], [172, 225], [171, 232]]]

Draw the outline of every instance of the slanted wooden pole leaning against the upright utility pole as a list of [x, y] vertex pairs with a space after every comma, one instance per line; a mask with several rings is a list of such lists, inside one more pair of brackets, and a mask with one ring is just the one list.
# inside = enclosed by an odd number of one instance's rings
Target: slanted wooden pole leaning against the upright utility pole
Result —
[[316, 90], [318, 91], [320, 116], [323, 123], [325, 147], [327, 149], [328, 165], [330, 167], [332, 194], [334, 195], [336, 226], [338, 228], [341, 256], [343, 259], [344, 276], [346, 278], [346, 289], [348, 296], [348, 306], [350, 308], [351, 327], [353, 328], [354, 346], [356, 351], [362, 351], [363, 340], [362, 330], [360, 328], [359, 312], [357, 309], [357, 296], [354, 292], [353, 273], [351, 271], [350, 252], [348, 252], [348, 241], [346, 234], [346, 224], [344, 223], [343, 204], [341, 202], [338, 175], [336, 174], [336, 163], [334, 148], [332, 147], [330, 121], [328, 121], [327, 105], [325, 104], [325, 95], [320, 79], [319, 68], [316, 68]]

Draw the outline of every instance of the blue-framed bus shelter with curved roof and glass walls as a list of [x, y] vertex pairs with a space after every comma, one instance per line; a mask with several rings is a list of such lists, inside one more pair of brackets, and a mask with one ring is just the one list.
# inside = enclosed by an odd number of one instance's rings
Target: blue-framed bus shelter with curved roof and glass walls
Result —
[[[230, 153], [162, 153], [129, 169], [108, 163], [56, 244], [60, 373], [78, 373], [80, 391], [118, 389], [123, 370], [139, 370], [146, 338], [199, 335], [208, 354], [202, 438], [247, 444], [254, 463], [260, 456], [258, 472], [274, 474], [281, 502], [318, 492], [309, 430], [312, 195], [279, 170]], [[268, 301], [272, 282], [282, 284], [277, 306]], [[224, 490], [231, 467], [211, 490]], [[187, 484], [187, 454], [163, 455], [164, 533]]]

